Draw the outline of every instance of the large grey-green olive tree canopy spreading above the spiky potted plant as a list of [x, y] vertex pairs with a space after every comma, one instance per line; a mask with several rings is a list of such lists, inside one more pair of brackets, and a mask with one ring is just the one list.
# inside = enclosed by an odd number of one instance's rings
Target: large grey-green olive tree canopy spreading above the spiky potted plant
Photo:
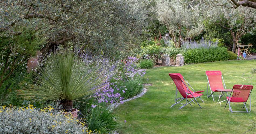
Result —
[[[147, 0], [1, 0], [1, 34], [18, 35], [20, 25], [51, 26], [43, 52], [62, 45], [106, 52], [125, 47], [147, 24]], [[69, 42], [69, 43], [67, 43]], [[103, 49], [103, 50], [102, 50]]]

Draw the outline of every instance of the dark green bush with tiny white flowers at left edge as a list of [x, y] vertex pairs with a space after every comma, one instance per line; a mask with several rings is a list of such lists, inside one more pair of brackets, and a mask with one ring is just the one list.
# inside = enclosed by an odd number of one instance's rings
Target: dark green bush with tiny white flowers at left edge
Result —
[[21, 27], [19, 29], [22, 31], [20, 35], [0, 37], [0, 87], [15, 72], [21, 73], [26, 70], [27, 59], [47, 43], [46, 31], [49, 28], [44, 29], [42, 27], [35, 29], [29, 26]]

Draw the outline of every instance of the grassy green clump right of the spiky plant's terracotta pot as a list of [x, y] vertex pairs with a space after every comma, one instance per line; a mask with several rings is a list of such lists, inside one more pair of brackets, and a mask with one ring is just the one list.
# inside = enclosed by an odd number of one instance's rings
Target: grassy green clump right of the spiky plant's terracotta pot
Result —
[[113, 133], [119, 126], [116, 115], [107, 109], [106, 103], [98, 103], [94, 106], [96, 107], [91, 107], [86, 117], [88, 129], [97, 130], [101, 133]]

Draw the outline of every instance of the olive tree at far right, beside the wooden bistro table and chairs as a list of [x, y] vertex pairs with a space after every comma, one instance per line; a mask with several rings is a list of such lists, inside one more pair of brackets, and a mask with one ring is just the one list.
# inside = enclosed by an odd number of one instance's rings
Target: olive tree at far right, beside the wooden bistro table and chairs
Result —
[[[226, 1], [222, 1], [225, 3]], [[215, 6], [209, 8], [206, 16], [208, 19], [225, 29], [229, 29], [232, 36], [232, 51], [236, 50], [236, 43], [245, 33], [250, 33], [255, 29], [256, 10], [249, 7], [240, 6], [237, 9]]]

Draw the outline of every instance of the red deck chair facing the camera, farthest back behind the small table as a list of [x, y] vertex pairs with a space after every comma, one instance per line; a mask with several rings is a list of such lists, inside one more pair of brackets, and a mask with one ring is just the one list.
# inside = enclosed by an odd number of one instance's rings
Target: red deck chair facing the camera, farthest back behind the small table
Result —
[[[224, 79], [223, 79], [222, 73], [220, 71], [206, 71], [205, 73], [206, 73], [206, 77], [207, 77], [207, 80], [208, 80], [206, 95], [207, 95], [207, 98], [212, 96], [212, 99], [214, 101], [213, 96], [219, 96], [219, 95], [213, 95], [213, 93], [223, 92], [224, 88], [226, 90], [226, 85], [224, 83]], [[223, 81], [223, 84], [222, 84], [222, 81]], [[210, 91], [211, 91], [210, 95], [208, 95], [208, 85], [209, 85]], [[223, 87], [223, 85], [224, 85], [224, 87]], [[220, 91], [218, 91], [218, 90], [220, 90]], [[226, 93], [227, 92], [225, 92], [224, 94], [226, 94]], [[219, 100], [222, 96], [219, 96]]]

